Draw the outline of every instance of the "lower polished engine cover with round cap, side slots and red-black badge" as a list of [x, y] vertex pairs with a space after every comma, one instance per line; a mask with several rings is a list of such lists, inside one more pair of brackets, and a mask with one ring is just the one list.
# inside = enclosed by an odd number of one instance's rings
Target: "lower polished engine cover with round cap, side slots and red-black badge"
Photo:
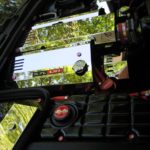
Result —
[[90, 44], [18, 56], [14, 76], [20, 88], [92, 82]]

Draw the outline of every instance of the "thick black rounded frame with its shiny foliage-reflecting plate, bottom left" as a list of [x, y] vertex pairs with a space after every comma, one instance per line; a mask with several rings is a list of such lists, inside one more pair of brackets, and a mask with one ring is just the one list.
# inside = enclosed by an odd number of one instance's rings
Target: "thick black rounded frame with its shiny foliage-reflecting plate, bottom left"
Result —
[[[36, 119], [36, 122], [34, 121], [35, 126], [31, 126], [30, 129], [30, 132], [34, 132], [38, 122], [42, 120], [44, 112], [49, 106], [49, 99], [48, 92], [41, 88], [0, 92], [1, 150], [13, 149], [34, 115], [38, 113], [38, 119]], [[29, 133], [27, 134], [30, 136]]]

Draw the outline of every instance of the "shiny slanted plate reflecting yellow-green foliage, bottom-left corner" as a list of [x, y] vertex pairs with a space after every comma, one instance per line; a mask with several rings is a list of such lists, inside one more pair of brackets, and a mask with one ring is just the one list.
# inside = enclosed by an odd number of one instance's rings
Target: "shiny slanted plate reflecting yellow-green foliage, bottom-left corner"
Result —
[[[7, 104], [1, 111], [8, 111]], [[13, 104], [0, 122], [0, 150], [12, 150], [36, 111], [36, 107]]]

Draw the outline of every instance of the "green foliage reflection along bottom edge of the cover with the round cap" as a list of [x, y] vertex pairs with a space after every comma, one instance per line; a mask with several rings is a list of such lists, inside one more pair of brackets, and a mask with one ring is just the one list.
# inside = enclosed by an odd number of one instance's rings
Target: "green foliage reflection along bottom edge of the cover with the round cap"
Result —
[[[44, 70], [49, 70], [49, 68], [37, 70], [36, 72], [41, 72]], [[91, 70], [88, 70], [83, 76], [76, 75], [74, 70], [72, 69], [72, 66], [64, 66], [63, 70], [64, 71], [62, 73], [57, 74], [48, 74], [36, 77], [28, 76], [27, 78], [29, 80], [20, 80], [17, 81], [17, 84], [19, 88], [25, 88], [25, 87], [38, 87], [57, 84], [63, 85], [63, 84], [92, 82]], [[19, 74], [17, 74], [17, 76], [18, 75]]]

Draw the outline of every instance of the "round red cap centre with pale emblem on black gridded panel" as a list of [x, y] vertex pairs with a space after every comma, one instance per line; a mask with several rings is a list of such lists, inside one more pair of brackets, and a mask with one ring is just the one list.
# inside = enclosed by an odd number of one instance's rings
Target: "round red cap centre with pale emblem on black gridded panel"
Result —
[[63, 120], [69, 116], [70, 108], [67, 105], [60, 105], [54, 110], [54, 117], [57, 120]]

